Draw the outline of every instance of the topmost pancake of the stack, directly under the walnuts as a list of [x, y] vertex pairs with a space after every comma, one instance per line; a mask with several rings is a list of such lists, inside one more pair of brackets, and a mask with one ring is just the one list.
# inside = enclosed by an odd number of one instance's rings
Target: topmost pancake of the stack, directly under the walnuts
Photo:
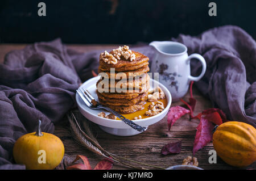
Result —
[[[135, 60], [130, 61], [126, 60], [124, 57], [121, 57], [120, 60], [118, 60], [117, 64], [108, 64], [100, 58], [100, 70], [101, 71], [110, 71], [111, 68], [114, 68], [115, 71], [129, 71], [129, 70], [136, 70], [139, 68], [142, 68], [143, 66], [148, 65], [148, 57], [144, 56], [144, 54], [139, 52], [134, 52], [135, 54]], [[112, 51], [110, 52], [112, 53]]]

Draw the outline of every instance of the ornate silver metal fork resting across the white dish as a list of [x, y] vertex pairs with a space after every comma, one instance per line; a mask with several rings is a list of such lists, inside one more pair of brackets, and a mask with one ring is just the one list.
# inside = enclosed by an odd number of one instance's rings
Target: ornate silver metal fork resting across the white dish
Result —
[[[80, 90], [82, 89], [82, 91]], [[102, 106], [100, 103], [98, 103], [92, 95], [90, 95], [90, 92], [88, 90], [85, 90], [84, 88], [80, 88], [77, 91], [77, 94], [79, 94], [80, 98], [84, 101], [86, 106], [91, 108], [92, 110], [99, 110], [104, 109], [106, 111], [109, 111], [113, 113], [113, 115], [117, 116], [119, 119], [121, 119], [123, 122], [128, 124], [131, 128], [136, 129], [139, 132], [146, 131], [146, 127], [141, 127], [140, 125], [134, 123], [133, 121], [125, 118], [123, 115], [119, 114], [118, 112], [115, 112], [114, 110], [110, 109], [109, 107]]]

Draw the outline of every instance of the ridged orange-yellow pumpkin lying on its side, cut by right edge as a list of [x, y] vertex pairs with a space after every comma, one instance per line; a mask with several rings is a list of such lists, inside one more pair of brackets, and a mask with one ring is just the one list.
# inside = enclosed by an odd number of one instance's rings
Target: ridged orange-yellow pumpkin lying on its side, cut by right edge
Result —
[[213, 146], [229, 165], [249, 166], [256, 161], [256, 129], [246, 123], [228, 121], [213, 133]]

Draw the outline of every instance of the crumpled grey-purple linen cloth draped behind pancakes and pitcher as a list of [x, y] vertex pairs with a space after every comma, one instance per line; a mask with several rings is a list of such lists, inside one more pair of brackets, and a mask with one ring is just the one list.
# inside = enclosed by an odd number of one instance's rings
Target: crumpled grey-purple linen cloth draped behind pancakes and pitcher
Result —
[[[197, 88], [221, 108], [230, 120], [256, 123], [256, 45], [241, 28], [225, 26], [191, 37], [180, 35], [175, 41], [187, 45], [188, 52], [200, 53], [207, 71]], [[148, 45], [134, 50], [154, 56]], [[0, 65], [0, 169], [25, 169], [13, 160], [13, 145], [23, 134], [36, 130], [53, 133], [54, 124], [76, 106], [75, 90], [97, 73], [102, 50], [79, 53], [67, 49], [60, 39], [35, 43], [14, 50]], [[200, 64], [192, 62], [192, 73]]]

